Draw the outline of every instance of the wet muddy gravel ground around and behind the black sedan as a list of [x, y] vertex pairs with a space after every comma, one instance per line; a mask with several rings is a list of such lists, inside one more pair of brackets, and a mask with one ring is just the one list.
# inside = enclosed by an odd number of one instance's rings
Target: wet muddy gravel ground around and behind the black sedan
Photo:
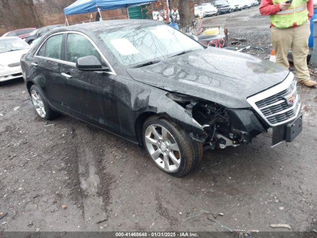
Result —
[[[257, 8], [208, 20], [269, 52]], [[2, 83], [0, 231], [226, 231], [206, 215], [186, 220], [206, 212], [232, 229], [317, 231], [317, 88], [299, 90], [304, 129], [293, 143], [271, 148], [268, 133], [208, 151], [177, 179], [137, 145], [68, 117], [40, 119], [22, 79]]]

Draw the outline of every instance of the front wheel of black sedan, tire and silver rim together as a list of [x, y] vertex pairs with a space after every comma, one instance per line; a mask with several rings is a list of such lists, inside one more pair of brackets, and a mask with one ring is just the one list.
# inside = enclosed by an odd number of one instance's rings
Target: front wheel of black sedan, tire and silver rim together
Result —
[[187, 175], [202, 158], [202, 144], [193, 141], [182, 128], [167, 119], [147, 119], [143, 126], [143, 141], [155, 164], [171, 176]]

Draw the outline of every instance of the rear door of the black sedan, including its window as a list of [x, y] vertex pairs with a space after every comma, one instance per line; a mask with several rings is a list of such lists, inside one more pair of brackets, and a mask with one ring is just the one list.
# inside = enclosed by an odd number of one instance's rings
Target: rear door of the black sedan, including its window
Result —
[[65, 78], [60, 75], [62, 42], [64, 34], [49, 37], [36, 52], [32, 63], [34, 80], [42, 89], [49, 103], [64, 111], [66, 103]]

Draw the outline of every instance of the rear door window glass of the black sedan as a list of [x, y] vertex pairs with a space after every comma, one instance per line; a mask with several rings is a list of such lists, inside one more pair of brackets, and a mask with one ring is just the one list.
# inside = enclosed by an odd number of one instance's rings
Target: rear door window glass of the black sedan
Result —
[[50, 37], [38, 52], [38, 56], [61, 60], [63, 34]]

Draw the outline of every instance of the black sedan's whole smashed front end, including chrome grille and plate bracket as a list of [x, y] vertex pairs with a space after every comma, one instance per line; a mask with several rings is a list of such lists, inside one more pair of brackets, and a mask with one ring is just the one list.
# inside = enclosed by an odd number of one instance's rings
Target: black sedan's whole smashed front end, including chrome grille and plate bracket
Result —
[[301, 101], [292, 73], [282, 83], [248, 98], [251, 107], [247, 109], [228, 109], [185, 95], [166, 96], [192, 118], [192, 126], [182, 120], [178, 122], [205, 148], [223, 149], [250, 143], [268, 128], [273, 128], [272, 146], [275, 146], [282, 141], [293, 141], [302, 131]]

